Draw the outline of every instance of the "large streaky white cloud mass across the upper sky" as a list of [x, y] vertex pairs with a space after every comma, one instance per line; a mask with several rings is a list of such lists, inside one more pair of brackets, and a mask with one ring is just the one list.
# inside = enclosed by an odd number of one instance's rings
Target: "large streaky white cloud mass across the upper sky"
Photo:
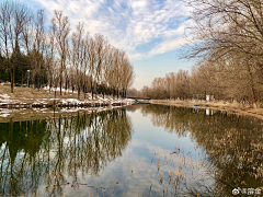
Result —
[[[49, 13], [62, 10], [69, 16], [71, 30], [84, 22], [91, 35], [101, 33], [110, 43], [129, 54], [133, 60], [150, 58], [185, 44], [184, 27], [190, 9], [183, 0], [33, 0]], [[52, 18], [52, 16], [49, 16]], [[149, 51], [136, 48], [162, 40]]]

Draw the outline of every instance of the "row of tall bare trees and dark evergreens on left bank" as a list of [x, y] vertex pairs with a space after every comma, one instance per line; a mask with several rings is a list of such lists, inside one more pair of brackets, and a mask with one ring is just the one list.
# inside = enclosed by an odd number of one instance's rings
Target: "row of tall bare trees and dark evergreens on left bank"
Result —
[[[41, 89], [125, 95], [134, 82], [134, 68], [122, 49], [101, 34], [91, 36], [84, 23], [71, 31], [69, 18], [54, 11], [47, 24], [44, 10], [36, 14], [24, 4], [0, 4], [0, 80]], [[65, 93], [66, 93], [65, 91]]]

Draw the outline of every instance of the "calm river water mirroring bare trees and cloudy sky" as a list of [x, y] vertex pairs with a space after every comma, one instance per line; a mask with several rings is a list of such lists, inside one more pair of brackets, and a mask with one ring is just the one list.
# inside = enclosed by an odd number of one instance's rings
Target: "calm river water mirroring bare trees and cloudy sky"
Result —
[[0, 196], [260, 194], [262, 126], [254, 117], [162, 105], [10, 119], [0, 123]]

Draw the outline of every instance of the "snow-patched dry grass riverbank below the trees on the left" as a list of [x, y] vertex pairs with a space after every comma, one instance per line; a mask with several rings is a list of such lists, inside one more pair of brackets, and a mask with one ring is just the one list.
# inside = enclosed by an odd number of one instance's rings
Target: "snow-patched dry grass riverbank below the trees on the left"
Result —
[[69, 90], [59, 89], [32, 89], [15, 86], [14, 93], [10, 93], [10, 84], [0, 85], [0, 108], [34, 108], [34, 107], [100, 107], [122, 106], [133, 103], [133, 100], [116, 99], [110, 95], [91, 93], [80, 94]]

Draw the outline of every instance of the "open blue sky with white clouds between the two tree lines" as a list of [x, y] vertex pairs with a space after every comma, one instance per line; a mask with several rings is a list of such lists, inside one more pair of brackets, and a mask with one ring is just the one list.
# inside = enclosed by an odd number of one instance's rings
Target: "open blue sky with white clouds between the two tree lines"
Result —
[[[4, 0], [0, 0], [4, 1]], [[191, 25], [191, 9], [183, 0], [20, 0], [34, 12], [44, 9], [46, 18], [54, 10], [69, 16], [71, 30], [84, 22], [91, 35], [101, 33], [129, 55], [136, 79], [133, 88], [150, 85], [156, 77], [190, 70], [193, 62], [179, 60], [187, 43], [185, 27]]]

